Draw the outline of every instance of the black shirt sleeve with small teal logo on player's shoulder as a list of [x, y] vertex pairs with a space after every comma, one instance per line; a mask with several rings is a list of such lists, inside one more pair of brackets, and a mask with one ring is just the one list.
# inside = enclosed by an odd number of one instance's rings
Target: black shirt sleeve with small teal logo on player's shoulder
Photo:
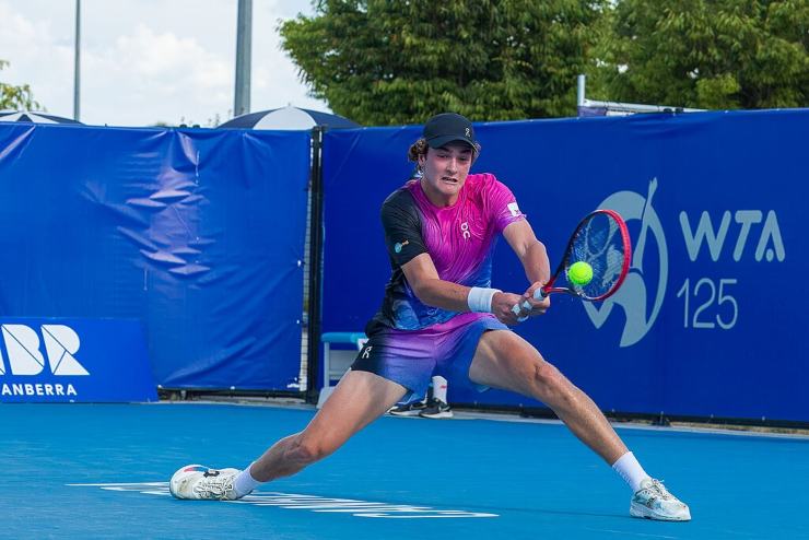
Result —
[[413, 257], [427, 253], [421, 230], [421, 213], [413, 197], [398, 191], [382, 207], [385, 245], [390, 259], [399, 267]]

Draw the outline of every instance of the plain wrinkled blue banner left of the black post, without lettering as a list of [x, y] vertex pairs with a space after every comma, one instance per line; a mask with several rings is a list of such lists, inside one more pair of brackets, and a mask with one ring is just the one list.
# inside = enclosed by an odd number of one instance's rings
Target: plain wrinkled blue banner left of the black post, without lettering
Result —
[[0, 126], [0, 313], [134, 318], [164, 387], [286, 390], [309, 145], [303, 131]]

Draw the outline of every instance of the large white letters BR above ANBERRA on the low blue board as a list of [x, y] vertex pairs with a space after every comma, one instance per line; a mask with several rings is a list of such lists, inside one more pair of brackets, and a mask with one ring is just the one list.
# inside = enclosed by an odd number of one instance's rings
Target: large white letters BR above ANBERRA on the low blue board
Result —
[[[39, 375], [45, 371], [42, 343], [33, 328], [25, 325], [1, 325], [0, 328], [8, 354], [8, 359], [2, 359], [0, 353], [0, 376], [7, 374], [5, 360], [10, 369], [9, 375]], [[42, 325], [40, 329], [50, 373], [90, 375], [73, 356], [79, 351], [81, 342], [72, 328], [65, 325]]]

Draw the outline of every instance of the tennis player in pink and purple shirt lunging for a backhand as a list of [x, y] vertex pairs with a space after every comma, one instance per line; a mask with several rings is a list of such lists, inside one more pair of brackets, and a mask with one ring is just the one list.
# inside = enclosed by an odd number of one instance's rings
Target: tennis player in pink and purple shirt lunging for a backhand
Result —
[[[423, 395], [437, 373], [461, 375], [481, 390], [503, 388], [542, 401], [626, 481], [632, 516], [691, 519], [689, 507], [646, 474], [593, 400], [508, 329], [518, 317], [550, 307], [548, 298], [534, 300], [550, 278], [550, 265], [508, 188], [491, 174], [469, 174], [479, 152], [474, 129], [462, 116], [441, 114], [425, 124], [409, 150], [420, 174], [382, 207], [392, 275], [351, 369], [305, 430], [277, 442], [243, 471], [179, 469], [169, 483], [175, 497], [235, 500], [294, 474], [402, 398]], [[491, 287], [500, 235], [530, 283], [521, 295]], [[525, 301], [530, 309], [512, 312]]]

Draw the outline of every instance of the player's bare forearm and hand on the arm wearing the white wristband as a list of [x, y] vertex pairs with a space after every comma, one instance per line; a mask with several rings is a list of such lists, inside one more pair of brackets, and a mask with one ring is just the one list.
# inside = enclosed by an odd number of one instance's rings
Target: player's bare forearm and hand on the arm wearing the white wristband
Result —
[[[415, 296], [429, 306], [450, 312], [469, 312], [469, 291], [471, 287], [442, 280], [430, 254], [421, 254], [401, 267], [410, 289]], [[501, 322], [516, 325], [517, 316], [512, 306], [521, 301], [518, 294], [499, 292], [492, 297], [492, 313]]]

